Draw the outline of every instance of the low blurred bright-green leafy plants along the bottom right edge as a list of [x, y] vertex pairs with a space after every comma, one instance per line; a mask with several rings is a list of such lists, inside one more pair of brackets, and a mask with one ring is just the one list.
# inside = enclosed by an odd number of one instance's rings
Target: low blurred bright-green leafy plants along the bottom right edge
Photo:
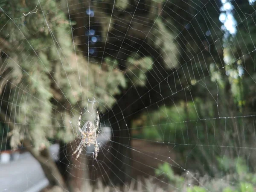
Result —
[[[236, 167], [237, 172], [229, 173], [228, 175], [216, 178], [216, 177], [198, 177], [192, 172], [184, 174], [183, 176], [177, 176], [173, 172], [169, 163], [163, 163], [155, 171], [156, 175], [164, 175], [168, 178], [169, 183], [177, 188], [183, 189], [184, 192], [207, 192], [209, 189], [212, 192], [253, 192], [256, 188], [256, 177], [255, 174], [246, 172], [245, 162], [241, 158], [234, 160], [228, 160], [223, 158], [221, 165], [229, 169], [230, 166]], [[224, 162], [225, 161], [225, 162]], [[228, 165], [228, 162], [230, 165]], [[225, 165], [224, 165], [225, 164]], [[233, 168], [230, 168], [233, 169]], [[230, 171], [231, 172], [231, 171]], [[196, 183], [194, 183], [197, 178]], [[192, 180], [191, 180], [192, 178]], [[194, 183], [194, 184], [193, 184]], [[198, 183], [200, 185], [198, 186]], [[189, 186], [189, 187], [187, 187]], [[208, 189], [208, 190], [207, 190]]]

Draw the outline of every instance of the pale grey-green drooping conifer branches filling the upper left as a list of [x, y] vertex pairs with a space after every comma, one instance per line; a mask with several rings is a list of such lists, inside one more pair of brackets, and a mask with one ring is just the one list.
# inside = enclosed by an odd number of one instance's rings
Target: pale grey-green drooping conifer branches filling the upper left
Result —
[[[1, 2], [0, 41], [6, 60], [0, 58], [0, 75], [8, 75], [0, 79], [0, 95], [6, 85], [9, 93], [4, 99], [12, 101], [1, 110], [15, 122], [9, 129], [14, 148], [25, 137], [33, 141], [35, 151], [42, 143], [47, 145], [48, 138], [73, 140], [70, 121], [78, 119], [88, 99], [96, 99], [96, 107], [103, 111], [116, 102], [113, 96], [119, 88], [126, 87], [122, 71], [105, 71], [81, 55], [70, 32], [75, 23], [59, 6], [48, 0]], [[73, 127], [76, 123], [72, 120]]]

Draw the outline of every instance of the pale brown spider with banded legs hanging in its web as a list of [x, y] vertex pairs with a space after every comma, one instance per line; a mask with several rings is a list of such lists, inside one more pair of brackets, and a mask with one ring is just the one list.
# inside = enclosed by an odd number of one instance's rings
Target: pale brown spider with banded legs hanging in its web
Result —
[[80, 142], [79, 146], [76, 148], [76, 151], [73, 152], [73, 154], [76, 154], [78, 152], [78, 154], [76, 155], [76, 160], [77, 160], [77, 158], [80, 156], [80, 154], [85, 146], [90, 146], [90, 144], [94, 144], [95, 147], [94, 147], [93, 158], [96, 159], [98, 156], [98, 152], [99, 152], [99, 143], [96, 140], [96, 138], [99, 135], [99, 113], [98, 113], [98, 111], [96, 111], [97, 112], [96, 126], [93, 125], [92, 122], [87, 121], [81, 128], [81, 116], [82, 116], [83, 112], [84, 112], [84, 109], [81, 111], [81, 113], [79, 115], [78, 125], [77, 125], [77, 128], [80, 133], [80, 135], [77, 134], [77, 136], [81, 139], [81, 142]]

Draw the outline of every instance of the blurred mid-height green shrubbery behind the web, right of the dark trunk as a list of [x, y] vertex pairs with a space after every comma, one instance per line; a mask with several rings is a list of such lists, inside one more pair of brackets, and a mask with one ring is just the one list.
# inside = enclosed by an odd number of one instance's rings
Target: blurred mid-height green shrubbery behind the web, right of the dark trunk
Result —
[[[216, 65], [211, 65], [214, 70]], [[230, 66], [231, 67], [231, 66]], [[198, 161], [197, 169], [204, 170], [210, 175], [214, 176], [222, 170], [222, 173], [230, 172], [244, 172], [250, 167], [250, 165], [244, 164], [241, 159], [236, 159], [231, 156], [231, 159], [222, 159], [222, 162], [230, 167], [220, 166], [218, 163], [218, 154], [220, 150], [218, 147], [207, 147], [218, 146], [226, 143], [228, 146], [240, 145], [239, 140], [250, 140], [252, 139], [253, 124], [252, 119], [218, 119], [218, 116], [239, 116], [241, 115], [240, 108], [243, 108], [246, 103], [241, 100], [244, 98], [243, 95], [251, 93], [244, 93], [244, 89], [241, 88], [241, 84], [238, 84], [239, 88], [237, 93], [241, 93], [240, 102], [239, 100], [233, 99], [230, 93], [236, 98], [236, 95], [232, 90], [227, 90], [228, 85], [231, 81], [229, 76], [223, 76], [223, 70], [219, 70], [218, 73], [212, 74], [212, 79], [205, 80], [207, 86], [204, 88], [200, 87], [204, 94], [204, 98], [194, 98], [192, 102], [175, 102], [175, 106], [172, 107], [161, 107], [159, 111], [153, 111], [150, 113], [144, 113], [140, 119], [143, 119], [143, 124], [136, 125], [134, 127], [139, 130], [136, 137], [155, 140], [167, 143], [181, 143], [176, 146], [176, 150], [183, 155], [188, 161]], [[224, 72], [225, 73], [225, 72]], [[239, 79], [240, 82], [244, 81], [245, 77]], [[248, 80], [248, 79], [247, 79]], [[213, 81], [213, 82], [212, 82]], [[242, 82], [244, 84], [244, 82]], [[232, 86], [231, 86], [232, 87]], [[247, 87], [247, 86], [244, 86]], [[247, 88], [248, 89], [248, 88]], [[218, 100], [214, 96], [218, 95]], [[237, 97], [238, 98], [238, 97]], [[232, 100], [233, 99], [233, 100]], [[218, 105], [216, 105], [218, 102]], [[236, 109], [239, 110], [236, 110]], [[205, 120], [198, 120], [205, 119]], [[244, 129], [244, 126], [247, 128]], [[191, 147], [186, 144], [190, 144]], [[182, 145], [185, 144], [185, 145]], [[200, 146], [203, 144], [202, 146]], [[192, 147], [192, 146], [196, 147]], [[187, 151], [193, 150], [193, 153], [187, 157]], [[230, 149], [230, 151], [232, 151]], [[233, 152], [230, 152], [233, 154]], [[188, 159], [189, 158], [189, 159]], [[229, 163], [229, 162], [233, 163]], [[202, 166], [204, 164], [204, 166]], [[235, 167], [232, 165], [236, 165]], [[196, 169], [195, 167], [193, 167]], [[192, 169], [193, 169], [192, 168]], [[250, 170], [250, 169], [249, 169]]]

